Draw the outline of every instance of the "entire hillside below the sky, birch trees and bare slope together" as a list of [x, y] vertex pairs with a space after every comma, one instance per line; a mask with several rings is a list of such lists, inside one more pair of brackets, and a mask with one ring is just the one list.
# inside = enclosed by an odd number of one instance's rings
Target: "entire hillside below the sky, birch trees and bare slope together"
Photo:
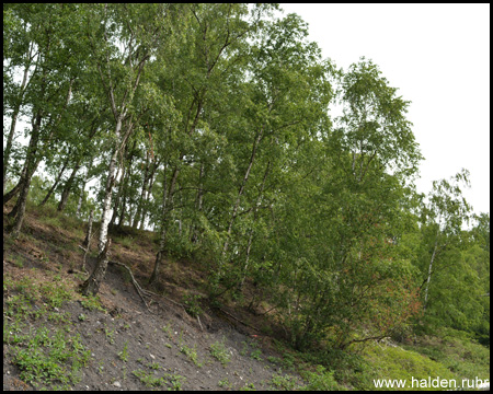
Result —
[[478, 175], [420, 192], [387, 65], [275, 3], [3, 11], [5, 389], [489, 379]]

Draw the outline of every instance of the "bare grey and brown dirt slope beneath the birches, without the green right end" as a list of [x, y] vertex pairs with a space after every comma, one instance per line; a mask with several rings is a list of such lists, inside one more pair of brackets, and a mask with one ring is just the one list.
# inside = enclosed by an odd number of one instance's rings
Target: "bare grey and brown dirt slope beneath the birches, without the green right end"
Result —
[[[148, 298], [149, 310], [125, 270], [110, 265], [100, 291], [100, 308], [104, 311], [91, 310], [88, 301], [77, 292], [83, 279], [77, 274], [83, 254], [78, 248], [81, 234], [82, 231], [73, 234], [42, 223], [39, 218], [31, 215], [25, 233], [5, 245], [3, 390], [39, 390], [57, 385], [82, 391], [270, 390], [279, 387], [279, 380], [284, 384], [289, 381], [291, 387], [302, 383], [293, 371], [290, 376], [282, 378], [285, 368], [271, 362], [279, 360], [274, 357], [280, 356], [270, 346], [271, 338], [253, 329], [253, 325], [242, 325], [232, 318], [237, 311], [228, 312], [227, 306], [223, 312], [211, 310], [202, 302], [199, 320], [185, 312], [180, 305], [183, 294], [191, 291], [200, 294], [195, 285], [204, 278], [190, 262], [188, 266], [183, 262], [168, 264], [162, 274], [167, 279], [153, 288], [154, 292], [165, 297]], [[7, 235], [3, 237], [5, 240]], [[151, 242], [125, 246], [115, 241], [112, 259], [131, 267], [136, 279], [144, 283], [153, 255]], [[95, 258], [91, 257], [88, 263], [91, 269]], [[54, 289], [68, 291], [58, 306], [54, 306]], [[24, 304], [19, 301], [25, 299], [28, 302], [24, 301]], [[23, 309], [28, 311], [22, 312]], [[21, 312], [23, 318], [19, 320]], [[65, 386], [50, 376], [36, 376], [35, 372], [32, 372], [34, 378], [27, 379], [28, 367], [20, 361], [22, 350], [36, 354], [34, 349], [37, 348], [30, 338], [37, 337], [44, 328], [49, 332], [46, 338], [51, 338], [39, 345], [45, 355], [50, 354], [50, 347], [56, 347], [53, 338], [61, 331], [66, 338], [72, 338], [67, 340], [68, 347], [80, 344], [83, 349], [78, 351], [90, 355], [85, 366], [74, 373], [77, 379]], [[267, 360], [270, 356], [271, 361]], [[66, 362], [73, 362], [71, 360], [67, 358]], [[48, 370], [46, 366], [37, 369], [38, 372]]]

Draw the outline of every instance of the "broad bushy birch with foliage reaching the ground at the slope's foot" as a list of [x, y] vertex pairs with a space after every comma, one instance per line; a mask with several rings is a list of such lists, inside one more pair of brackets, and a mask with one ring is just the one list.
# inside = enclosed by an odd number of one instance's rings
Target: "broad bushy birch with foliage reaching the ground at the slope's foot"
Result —
[[409, 103], [394, 93], [375, 65], [353, 65], [342, 78], [340, 127], [288, 173], [268, 282], [298, 348], [382, 338], [419, 312], [415, 268], [394, 240], [412, 223], [402, 207], [421, 154]]

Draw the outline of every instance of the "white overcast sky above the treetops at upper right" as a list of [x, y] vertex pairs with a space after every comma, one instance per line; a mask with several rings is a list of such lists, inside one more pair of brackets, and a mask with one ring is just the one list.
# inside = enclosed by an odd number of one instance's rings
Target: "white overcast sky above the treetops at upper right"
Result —
[[362, 56], [411, 101], [425, 160], [417, 190], [468, 169], [474, 212], [490, 212], [490, 4], [293, 4], [337, 67]]

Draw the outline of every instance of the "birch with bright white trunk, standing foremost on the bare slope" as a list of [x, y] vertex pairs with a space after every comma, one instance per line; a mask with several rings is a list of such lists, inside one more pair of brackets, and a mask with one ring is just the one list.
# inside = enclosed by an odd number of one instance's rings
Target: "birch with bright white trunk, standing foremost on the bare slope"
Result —
[[[146, 62], [153, 55], [161, 36], [170, 7], [162, 4], [104, 4], [88, 7], [85, 31], [92, 48], [95, 68], [107, 94], [114, 117], [112, 155], [107, 166], [102, 223], [99, 235], [98, 263], [90, 277], [82, 285], [82, 293], [95, 294], [107, 268], [107, 229], [112, 215], [112, 192], [116, 183], [118, 157], [138, 118], [133, 103], [139, 86]], [[123, 45], [123, 51], [117, 47]]]

